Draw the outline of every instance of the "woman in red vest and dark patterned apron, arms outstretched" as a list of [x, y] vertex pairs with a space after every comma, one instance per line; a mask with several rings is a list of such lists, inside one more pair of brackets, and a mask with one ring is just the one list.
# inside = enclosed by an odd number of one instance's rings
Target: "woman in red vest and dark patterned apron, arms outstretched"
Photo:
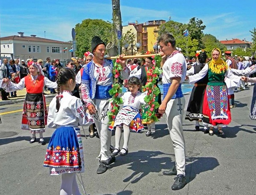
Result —
[[39, 143], [45, 144], [43, 133], [47, 124], [47, 107], [43, 94], [44, 85], [47, 88], [57, 88], [56, 82], [51, 82], [44, 76], [41, 65], [39, 63], [30, 63], [29, 75], [20, 80], [18, 84], [6, 83], [6, 91], [12, 92], [22, 90], [26, 87], [26, 98], [23, 107], [22, 127], [23, 130], [30, 130], [32, 138], [30, 144], [36, 141], [36, 133], [39, 133]]

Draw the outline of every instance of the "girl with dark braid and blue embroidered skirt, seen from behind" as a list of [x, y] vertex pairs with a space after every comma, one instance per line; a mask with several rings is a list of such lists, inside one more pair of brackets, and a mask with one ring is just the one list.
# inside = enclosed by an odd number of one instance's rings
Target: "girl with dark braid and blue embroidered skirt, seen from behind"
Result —
[[75, 79], [75, 72], [70, 68], [59, 71], [56, 81], [58, 95], [49, 105], [47, 120], [48, 127], [56, 130], [47, 147], [44, 167], [49, 167], [50, 175], [62, 174], [60, 195], [81, 194], [76, 183], [76, 172], [84, 172], [84, 155], [78, 124], [89, 125], [93, 122], [81, 100], [72, 96]]

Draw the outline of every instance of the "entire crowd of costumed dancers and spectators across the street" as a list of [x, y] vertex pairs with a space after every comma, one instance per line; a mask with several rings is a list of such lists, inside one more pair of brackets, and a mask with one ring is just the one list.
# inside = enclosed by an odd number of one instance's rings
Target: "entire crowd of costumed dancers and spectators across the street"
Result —
[[[195, 60], [190, 63], [180, 49], [176, 48], [175, 38], [171, 34], [163, 34], [158, 40], [162, 57], [163, 74], [159, 80], [163, 83], [163, 96], [155, 94], [155, 102], [160, 105], [156, 110], [158, 118], [164, 117], [175, 152], [175, 166], [163, 171], [163, 175], [176, 175], [172, 189], [182, 189], [186, 185], [185, 138], [183, 136], [183, 112], [185, 98], [181, 85], [185, 79], [194, 85], [186, 109], [185, 119], [195, 121], [195, 130], [199, 131], [199, 122], [204, 124], [204, 133], [214, 135], [214, 127], [219, 136], [225, 136], [223, 128], [230, 124], [230, 108], [235, 107], [234, 92], [243, 90], [246, 85], [253, 85], [256, 72], [255, 57], [243, 60], [233, 58], [230, 51], [224, 53], [213, 48], [211, 57], [204, 50], [197, 51]], [[137, 58], [128, 59], [119, 56], [119, 83], [127, 88], [120, 93], [122, 109], [113, 119], [108, 117], [113, 109], [109, 93], [113, 86], [113, 62], [105, 59], [106, 45], [100, 37], [93, 37], [91, 52], [84, 53], [83, 58], [67, 59], [63, 65], [60, 60], [48, 57], [43, 60], [3, 59], [0, 67], [0, 87], [2, 99], [8, 100], [17, 96], [15, 91], [26, 87], [26, 99], [22, 116], [22, 129], [30, 130], [30, 143], [36, 141], [46, 144], [43, 133], [45, 125], [55, 128], [47, 147], [44, 166], [49, 167], [51, 175], [62, 175], [60, 194], [79, 194], [76, 173], [84, 172], [84, 155], [79, 125], [90, 125], [90, 137], [97, 135], [100, 139], [97, 174], [108, 170], [116, 161], [115, 156], [128, 154], [130, 132], [144, 129], [143, 113], [148, 110], [144, 98], [146, 92], [141, 87], [148, 82], [149, 70], [154, 68], [154, 59], [146, 57], [144, 61]], [[241, 62], [242, 61], [242, 62]], [[240, 63], [241, 62], [241, 63]], [[256, 85], [255, 85], [256, 86]], [[256, 87], [254, 86], [250, 117], [256, 119]], [[156, 84], [156, 87], [158, 85]], [[46, 109], [44, 90], [56, 93]], [[57, 90], [57, 91], [56, 91]], [[81, 98], [79, 91], [81, 90]], [[159, 90], [160, 91], [160, 90]], [[11, 93], [11, 96], [9, 96]], [[208, 129], [209, 128], [209, 129]], [[120, 139], [124, 136], [124, 144], [120, 147]], [[111, 145], [112, 131], [115, 130], [115, 147]], [[147, 124], [146, 136], [154, 135], [155, 121]], [[62, 156], [62, 160], [57, 158]]]

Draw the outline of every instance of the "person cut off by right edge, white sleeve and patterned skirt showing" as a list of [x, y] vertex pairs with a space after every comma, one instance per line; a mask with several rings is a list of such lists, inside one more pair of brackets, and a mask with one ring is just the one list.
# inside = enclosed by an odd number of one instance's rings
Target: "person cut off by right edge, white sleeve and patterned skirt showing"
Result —
[[[256, 73], [256, 65], [252, 65], [246, 68], [245, 70], [232, 69], [232, 71], [236, 75], [250, 75]], [[255, 78], [249, 78], [245, 76], [242, 76], [241, 80], [244, 82], [256, 82]], [[250, 118], [256, 120], [256, 85], [254, 85], [253, 87], [253, 98], [250, 108]]]

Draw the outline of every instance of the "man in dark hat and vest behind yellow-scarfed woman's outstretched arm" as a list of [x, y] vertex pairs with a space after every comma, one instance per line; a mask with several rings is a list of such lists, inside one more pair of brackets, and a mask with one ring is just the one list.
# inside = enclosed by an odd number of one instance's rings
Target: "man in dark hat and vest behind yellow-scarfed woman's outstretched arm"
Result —
[[[231, 57], [231, 51], [225, 51], [225, 58], [227, 59], [226, 63], [230, 68], [237, 69], [237, 67], [238, 67], [237, 63], [236, 63], [236, 60]], [[235, 90], [235, 88], [237, 88], [237, 85], [235, 82], [233, 82], [229, 78], [226, 78], [225, 82], [227, 85], [227, 92], [228, 92], [230, 108], [233, 108], [236, 106], [234, 90]]]

